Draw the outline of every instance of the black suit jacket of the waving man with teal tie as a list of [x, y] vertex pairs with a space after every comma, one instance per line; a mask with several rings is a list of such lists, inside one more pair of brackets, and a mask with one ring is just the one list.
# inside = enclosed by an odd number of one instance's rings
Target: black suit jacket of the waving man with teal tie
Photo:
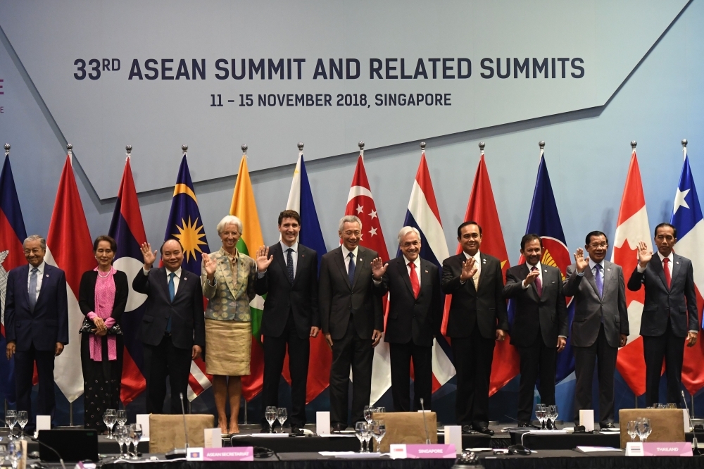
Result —
[[166, 268], [151, 268], [149, 275], [142, 269], [134, 276], [132, 289], [146, 294], [146, 309], [139, 327], [139, 340], [158, 345], [164, 338], [171, 316], [171, 340], [177, 349], [206, 346], [206, 324], [203, 317], [203, 290], [198, 275], [181, 268], [174, 301], [169, 299]]

